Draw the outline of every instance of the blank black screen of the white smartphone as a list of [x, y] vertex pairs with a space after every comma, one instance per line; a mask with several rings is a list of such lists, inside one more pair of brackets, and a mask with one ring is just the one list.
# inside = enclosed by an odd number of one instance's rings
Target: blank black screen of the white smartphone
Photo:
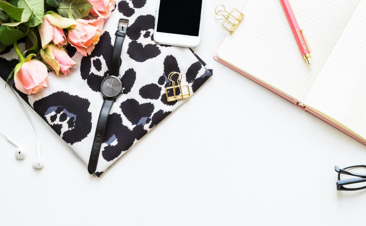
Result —
[[158, 32], [198, 36], [202, 0], [160, 0]]

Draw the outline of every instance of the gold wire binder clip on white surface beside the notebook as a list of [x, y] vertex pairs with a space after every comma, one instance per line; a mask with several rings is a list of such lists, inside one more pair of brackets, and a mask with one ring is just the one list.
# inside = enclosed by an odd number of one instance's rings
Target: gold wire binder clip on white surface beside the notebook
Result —
[[236, 27], [238, 27], [239, 23], [242, 22], [244, 18], [244, 14], [242, 14], [239, 10], [233, 9], [231, 12], [225, 10], [224, 5], [218, 5], [215, 8], [215, 19], [224, 20], [221, 24], [221, 27], [227, 30], [230, 34], [232, 34]]

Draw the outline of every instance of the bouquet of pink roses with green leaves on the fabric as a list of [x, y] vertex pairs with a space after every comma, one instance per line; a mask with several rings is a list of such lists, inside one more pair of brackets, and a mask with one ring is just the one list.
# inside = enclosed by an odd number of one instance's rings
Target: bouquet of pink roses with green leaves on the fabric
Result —
[[66, 75], [76, 62], [64, 47], [90, 54], [114, 7], [115, 0], [0, 0], [0, 52], [13, 45], [19, 57], [8, 80], [14, 75], [15, 87], [30, 95], [48, 86], [48, 71]]

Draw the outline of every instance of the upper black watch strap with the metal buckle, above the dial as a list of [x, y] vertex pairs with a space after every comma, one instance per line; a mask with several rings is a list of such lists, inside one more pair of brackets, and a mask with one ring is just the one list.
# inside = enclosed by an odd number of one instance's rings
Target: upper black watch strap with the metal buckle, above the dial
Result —
[[116, 39], [112, 53], [112, 61], [109, 67], [109, 75], [115, 75], [119, 77], [119, 68], [121, 67], [121, 53], [124, 37], [126, 37], [126, 31], [128, 26], [127, 19], [120, 19], [118, 24], [118, 30], [116, 31]]

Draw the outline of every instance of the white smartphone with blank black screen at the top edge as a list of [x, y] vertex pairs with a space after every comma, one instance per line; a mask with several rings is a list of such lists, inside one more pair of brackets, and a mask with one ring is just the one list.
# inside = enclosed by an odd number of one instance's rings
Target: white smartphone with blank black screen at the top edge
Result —
[[154, 41], [164, 45], [198, 46], [202, 16], [203, 0], [159, 0]]

